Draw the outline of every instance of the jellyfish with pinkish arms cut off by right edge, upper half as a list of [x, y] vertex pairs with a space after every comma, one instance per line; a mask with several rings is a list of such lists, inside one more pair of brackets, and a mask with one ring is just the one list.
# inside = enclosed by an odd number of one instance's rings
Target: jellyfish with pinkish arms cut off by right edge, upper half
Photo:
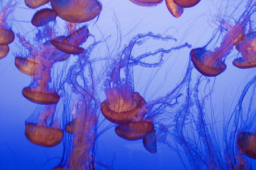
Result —
[[256, 66], [256, 32], [248, 33], [243, 40], [236, 45], [236, 49], [241, 52], [241, 58], [233, 61], [233, 65], [238, 68], [253, 68]]

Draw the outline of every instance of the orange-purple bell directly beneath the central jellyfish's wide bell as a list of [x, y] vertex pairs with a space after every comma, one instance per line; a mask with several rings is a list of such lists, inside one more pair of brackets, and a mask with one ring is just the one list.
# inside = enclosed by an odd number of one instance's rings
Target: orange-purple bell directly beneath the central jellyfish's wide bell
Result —
[[129, 122], [115, 127], [116, 134], [129, 141], [142, 139], [153, 130], [154, 124], [151, 121]]

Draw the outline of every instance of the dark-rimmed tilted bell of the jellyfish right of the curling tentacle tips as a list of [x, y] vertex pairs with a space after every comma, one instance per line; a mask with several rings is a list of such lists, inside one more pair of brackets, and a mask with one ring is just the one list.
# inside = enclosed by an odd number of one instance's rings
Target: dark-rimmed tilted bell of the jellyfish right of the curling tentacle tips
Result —
[[213, 52], [205, 50], [204, 47], [192, 49], [190, 56], [196, 70], [202, 73], [202, 75], [214, 77], [226, 69], [224, 61], [218, 59], [218, 56], [214, 58]]

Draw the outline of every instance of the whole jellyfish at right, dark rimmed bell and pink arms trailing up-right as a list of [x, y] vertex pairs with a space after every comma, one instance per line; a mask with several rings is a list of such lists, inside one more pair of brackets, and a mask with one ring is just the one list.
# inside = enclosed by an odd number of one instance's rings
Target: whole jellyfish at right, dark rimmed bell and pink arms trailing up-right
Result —
[[229, 29], [225, 34], [220, 47], [213, 52], [206, 50], [205, 47], [191, 50], [191, 60], [198, 72], [212, 77], [219, 75], [226, 69], [223, 59], [228, 56], [234, 45], [243, 39], [243, 24], [244, 22], [242, 24], [237, 23], [234, 27], [228, 26]]

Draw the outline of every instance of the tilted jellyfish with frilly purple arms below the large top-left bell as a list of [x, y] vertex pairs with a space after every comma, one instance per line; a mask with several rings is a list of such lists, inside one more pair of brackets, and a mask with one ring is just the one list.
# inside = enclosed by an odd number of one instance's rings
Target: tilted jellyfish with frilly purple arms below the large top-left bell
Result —
[[88, 38], [89, 30], [87, 26], [83, 26], [76, 31], [73, 31], [68, 35], [59, 36], [51, 40], [52, 45], [57, 49], [66, 52], [68, 54], [81, 54], [84, 49], [79, 47], [81, 43], [85, 42]]

